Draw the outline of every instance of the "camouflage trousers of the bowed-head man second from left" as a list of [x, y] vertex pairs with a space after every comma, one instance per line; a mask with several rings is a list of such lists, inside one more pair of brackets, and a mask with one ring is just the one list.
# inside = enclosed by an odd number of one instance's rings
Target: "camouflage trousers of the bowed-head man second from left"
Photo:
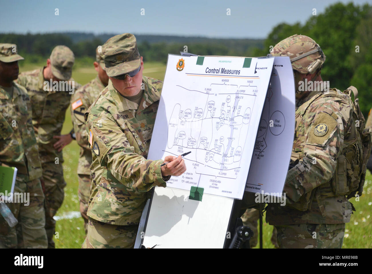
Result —
[[61, 207], [66, 182], [63, 179], [62, 163], [54, 162], [42, 163], [43, 181], [45, 187], [45, 230], [48, 236], [48, 248], [54, 248], [53, 236], [55, 232], [54, 215]]

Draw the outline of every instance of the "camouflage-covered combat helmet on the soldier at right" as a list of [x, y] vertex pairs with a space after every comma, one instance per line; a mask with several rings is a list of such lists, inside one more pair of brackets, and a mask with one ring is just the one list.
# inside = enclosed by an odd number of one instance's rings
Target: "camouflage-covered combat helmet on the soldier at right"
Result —
[[272, 48], [273, 56], [289, 56], [292, 68], [301, 74], [313, 74], [321, 68], [325, 55], [320, 46], [305, 35], [292, 35]]

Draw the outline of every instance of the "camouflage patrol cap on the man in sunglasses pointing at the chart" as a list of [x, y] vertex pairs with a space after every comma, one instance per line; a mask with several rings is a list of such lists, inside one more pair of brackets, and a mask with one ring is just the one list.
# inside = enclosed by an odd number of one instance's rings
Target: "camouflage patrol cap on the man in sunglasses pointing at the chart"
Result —
[[109, 77], [129, 73], [141, 65], [137, 40], [130, 33], [108, 39], [102, 46], [101, 56], [105, 60], [106, 73]]

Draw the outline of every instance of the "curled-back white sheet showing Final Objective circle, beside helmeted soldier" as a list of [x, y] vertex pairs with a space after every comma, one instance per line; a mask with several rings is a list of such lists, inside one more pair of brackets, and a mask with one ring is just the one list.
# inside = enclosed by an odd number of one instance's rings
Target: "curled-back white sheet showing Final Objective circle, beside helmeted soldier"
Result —
[[295, 83], [289, 57], [275, 57], [246, 191], [280, 197], [295, 128]]

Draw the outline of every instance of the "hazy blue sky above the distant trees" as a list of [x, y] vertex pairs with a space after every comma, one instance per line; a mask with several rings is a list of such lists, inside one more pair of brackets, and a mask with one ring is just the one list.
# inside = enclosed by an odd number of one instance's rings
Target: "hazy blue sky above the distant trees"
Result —
[[[2, 1], [0, 32], [82, 31], [265, 38], [281, 22], [304, 23], [337, 1]], [[350, 1], [341, 1], [348, 3]], [[372, 4], [355, 0], [355, 4]], [[59, 9], [59, 15], [55, 15]], [[145, 15], [141, 15], [144, 9]], [[227, 9], [231, 10], [228, 16]]]

